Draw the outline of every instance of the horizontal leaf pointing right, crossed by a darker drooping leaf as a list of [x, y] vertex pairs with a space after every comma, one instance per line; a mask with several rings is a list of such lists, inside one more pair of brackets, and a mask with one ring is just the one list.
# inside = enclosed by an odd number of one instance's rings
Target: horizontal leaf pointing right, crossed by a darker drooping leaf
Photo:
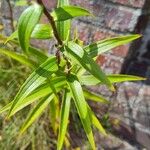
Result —
[[[112, 75], [107, 75], [107, 77], [111, 83], [146, 80], [146, 78], [133, 76], [133, 75], [125, 75], [125, 74], [112, 74]], [[80, 82], [84, 85], [102, 84], [98, 79], [96, 79], [92, 75], [80, 76], [79, 79], [80, 79]]]

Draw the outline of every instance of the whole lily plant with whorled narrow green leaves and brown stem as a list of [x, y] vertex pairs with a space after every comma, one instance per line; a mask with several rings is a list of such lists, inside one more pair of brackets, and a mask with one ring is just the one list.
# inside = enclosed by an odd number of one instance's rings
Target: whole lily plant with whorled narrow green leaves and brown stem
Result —
[[[39, 23], [42, 15], [46, 16], [49, 23]], [[21, 14], [14, 33], [9, 37], [0, 36], [0, 41], [3, 43], [0, 53], [32, 70], [14, 99], [1, 108], [0, 113], [8, 111], [9, 118], [32, 104], [34, 107], [20, 129], [22, 134], [49, 107], [51, 124], [54, 133], [58, 136], [58, 150], [63, 148], [67, 138], [71, 103], [76, 107], [93, 150], [96, 146], [92, 128], [96, 127], [101, 134], [107, 136], [88, 100], [108, 105], [110, 101], [87, 90], [87, 86], [103, 84], [114, 92], [114, 83], [144, 80], [131, 75], [106, 75], [96, 63], [98, 55], [127, 44], [140, 35], [119, 36], [84, 45], [78, 36], [71, 36], [71, 21], [81, 16], [93, 15], [84, 8], [69, 5], [69, 0], [58, 0], [57, 8], [49, 12], [43, 1], [37, 0]], [[55, 39], [55, 54], [45, 53], [42, 49], [32, 46], [31, 39]], [[9, 45], [17, 45], [21, 51], [14, 51]], [[56, 115], [56, 112], [59, 115]]]

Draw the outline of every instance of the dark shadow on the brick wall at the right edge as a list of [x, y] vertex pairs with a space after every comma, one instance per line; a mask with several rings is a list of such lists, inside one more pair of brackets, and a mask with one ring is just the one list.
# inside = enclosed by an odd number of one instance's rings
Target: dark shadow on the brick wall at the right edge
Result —
[[[150, 78], [150, 1], [145, 2], [142, 15], [139, 17], [134, 33], [142, 38], [133, 42], [129, 54], [123, 64], [121, 73], [139, 75]], [[144, 81], [150, 84], [150, 79]]]

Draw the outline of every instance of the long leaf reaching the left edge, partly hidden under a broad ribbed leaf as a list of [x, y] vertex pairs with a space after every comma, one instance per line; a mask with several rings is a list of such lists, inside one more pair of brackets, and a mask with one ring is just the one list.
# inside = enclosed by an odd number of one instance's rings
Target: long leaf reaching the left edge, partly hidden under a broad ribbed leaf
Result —
[[[51, 84], [55, 85], [56, 91], [59, 92], [61, 88], [66, 84], [65, 77], [54, 77], [51, 81]], [[42, 84], [37, 89], [35, 89], [31, 94], [29, 94], [25, 99], [22, 100], [20, 104], [17, 105], [15, 110], [13, 111], [12, 115], [14, 115], [19, 110], [23, 109], [24, 107], [28, 106], [29, 104], [35, 102], [36, 100], [52, 93], [52, 89], [49, 87], [49, 83]], [[11, 108], [13, 101], [7, 104], [6, 106], [0, 109], [0, 113], [7, 111]]]

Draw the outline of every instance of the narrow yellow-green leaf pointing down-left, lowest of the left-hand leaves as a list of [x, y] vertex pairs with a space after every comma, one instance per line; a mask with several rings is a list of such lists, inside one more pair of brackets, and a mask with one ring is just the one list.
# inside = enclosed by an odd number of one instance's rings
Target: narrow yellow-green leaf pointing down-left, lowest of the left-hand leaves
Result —
[[45, 110], [45, 108], [53, 98], [54, 94], [46, 96], [36, 105], [36, 107], [31, 111], [25, 123], [23, 124], [20, 130], [21, 134], [42, 114], [42, 112]]

